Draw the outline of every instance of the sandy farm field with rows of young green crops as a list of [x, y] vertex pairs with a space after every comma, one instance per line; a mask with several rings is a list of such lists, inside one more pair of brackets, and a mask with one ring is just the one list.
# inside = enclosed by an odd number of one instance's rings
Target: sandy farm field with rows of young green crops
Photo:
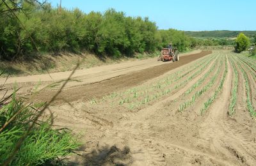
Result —
[[[54, 127], [84, 144], [70, 164], [255, 165], [255, 61], [214, 50], [132, 63], [77, 73], [49, 107]], [[36, 83], [26, 78], [16, 79], [30, 97]], [[60, 86], [46, 80], [33, 99], [48, 101]]]

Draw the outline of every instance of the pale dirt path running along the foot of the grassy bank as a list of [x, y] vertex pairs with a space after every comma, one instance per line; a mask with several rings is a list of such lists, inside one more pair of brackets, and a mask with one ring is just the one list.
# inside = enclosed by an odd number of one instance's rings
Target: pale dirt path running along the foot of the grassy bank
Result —
[[[190, 56], [191, 54], [198, 54], [200, 50], [195, 50], [189, 53], [180, 54], [180, 56]], [[172, 63], [172, 62], [170, 62]], [[135, 72], [138, 70], [143, 70], [145, 68], [150, 68], [153, 66], [159, 66], [163, 63], [157, 62], [156, 57], [139, 60], [139, 61], [127, 61], [124, 63], [118, 64], [109, 64], [106, 66], [97, 66], [88, 69], [76, 70], [72, 79], [79, 79], [79, 82], [82, 84], [89, 84], [92, 82], [99, 82], [100, 80], [109, 79], [111, 77], [116, 77], [118, 75], [123, 75], [130, 72]], [[25, 82], [58, 82], [60, 80], [65, 80], [72, 73], [72, 71], [67, 72], [57, 72], [49, 74], [40, 74], [40, 75], [28, 75], [22, 77], [9, 77], [6, 80], [3, 77], [0, 77], [0, 84], [4, 82], [6, 84], [25, 83]], [[70, 84], [69, 86], [76, 86], [79, 84]]]

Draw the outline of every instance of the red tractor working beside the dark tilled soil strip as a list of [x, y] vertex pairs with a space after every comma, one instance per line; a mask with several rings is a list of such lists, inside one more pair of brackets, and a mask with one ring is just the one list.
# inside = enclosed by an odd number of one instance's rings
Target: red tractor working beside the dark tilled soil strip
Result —
[[157, 61], [179, 61], [179, 50], [163, 48]]

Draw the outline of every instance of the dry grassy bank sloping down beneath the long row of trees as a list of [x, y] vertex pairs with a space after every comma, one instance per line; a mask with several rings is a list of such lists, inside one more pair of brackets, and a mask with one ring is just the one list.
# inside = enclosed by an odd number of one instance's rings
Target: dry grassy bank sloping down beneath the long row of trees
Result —
[[79, 69], [92, 68], [94, 66], [102, 66], [106, 64], [121, 63], [124, 61], [136, 61], [138, 59], [147, 59], [149, 57], [157, 56], [158, 52], [153, 54], [136, 54], [133, 57], [121, 57], [120, 59], [113, 59], [111, 57], [98, 57], [94, 54], [84, 52], [83, 54], [72, 54], [63, 52], [57, 55], [42, 54], [36, 56], [28, 61], [0, 61], [0, 72], [4, 71], [6, 77], [10, 74], [12, 76], [33, 75], [41, 73], [65, 72], [72, 71], [80, 61]]

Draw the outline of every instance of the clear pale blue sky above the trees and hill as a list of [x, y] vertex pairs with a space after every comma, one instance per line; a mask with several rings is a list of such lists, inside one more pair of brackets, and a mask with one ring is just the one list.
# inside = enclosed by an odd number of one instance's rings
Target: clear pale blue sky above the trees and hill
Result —
[[256, 0], [62, 0], [61, 6], [84, 13], [114, 8], [127, 16], [149, 17], [159, 29], [256, 30]]

